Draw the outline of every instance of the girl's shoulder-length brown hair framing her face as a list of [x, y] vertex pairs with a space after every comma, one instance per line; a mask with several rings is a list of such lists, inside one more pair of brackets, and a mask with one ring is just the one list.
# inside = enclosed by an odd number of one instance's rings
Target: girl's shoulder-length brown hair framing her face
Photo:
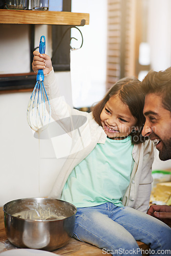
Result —
[[144, 142], [147, 137], [141, 135], [145, 117], [143, 115], [144, 108], [144, 93], [142, 91], [141, 82], [135, 77], [126, 77], [120, 79], [114, 86], [106, 93], [104, 98], [93, 107], [93, 116], [95, 121], [101, 125], [100, 114], [108, 100], [114, 96], [119, 96], [120, 100], [129, 107], [131, 114], [137, 119], [137, 131], [131, 132], [132, 143], [139, 144]]

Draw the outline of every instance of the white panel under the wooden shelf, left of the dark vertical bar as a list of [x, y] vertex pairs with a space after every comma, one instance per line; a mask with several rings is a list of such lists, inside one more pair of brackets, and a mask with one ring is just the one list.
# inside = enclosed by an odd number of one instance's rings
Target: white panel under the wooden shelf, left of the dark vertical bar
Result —
[[0, 74], [30, 72], [29, 25], [0, 24]]

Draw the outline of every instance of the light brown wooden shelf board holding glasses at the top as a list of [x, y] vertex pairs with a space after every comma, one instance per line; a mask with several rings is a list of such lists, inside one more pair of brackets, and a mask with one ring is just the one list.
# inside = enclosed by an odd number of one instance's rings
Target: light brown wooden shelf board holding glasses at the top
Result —
[[89, 13], [53, 12], [32, 10], [0, 10], [0, 24], [47, 24], [81, 25], [81, 20], [89, 24]]

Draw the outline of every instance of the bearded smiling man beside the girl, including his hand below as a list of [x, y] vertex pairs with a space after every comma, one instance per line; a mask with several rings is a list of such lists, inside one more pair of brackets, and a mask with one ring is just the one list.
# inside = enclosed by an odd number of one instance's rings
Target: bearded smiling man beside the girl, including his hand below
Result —
[[[171, 159], [171, 68], [149, 71], [142, 81], [145, 93], [142, 135], [155, 142], [159, 158]], [[152, 205], [147, 214], [171, 225], [171, 206]]]

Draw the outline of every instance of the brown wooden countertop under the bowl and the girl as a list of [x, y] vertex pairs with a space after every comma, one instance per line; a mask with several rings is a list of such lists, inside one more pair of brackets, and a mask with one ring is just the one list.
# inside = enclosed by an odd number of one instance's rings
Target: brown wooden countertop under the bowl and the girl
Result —
[[[139, 247], [142, 248], [142, 250], [147, 250], [149, 247], [146, 244], [143, 244], [141, 242], [137, 242]], [[5, 232], [5, 226], [4, 226], [4, 212], [3, 207], [0, 207], [0, 253], [3, 251], [7, 251], [10, 249], [17, 248], [16, 246], [12, 245], [9, 240], [7, 239], [6, 232]], [[59, 248], [55, 251], [53, 251], [55, 254], [59, 255], [66, 255], [66, 256], [102, 256], [104, 253], [102, 253], [102, 249], [97, 248], [96, 246], [93, 246], [88, 243], [80, 242], [74, 238], [71, 238], [69, 243], [66, 246], [63, 246], [62, 248]], [[111, 254], [108, 254], [111, 255]]]

